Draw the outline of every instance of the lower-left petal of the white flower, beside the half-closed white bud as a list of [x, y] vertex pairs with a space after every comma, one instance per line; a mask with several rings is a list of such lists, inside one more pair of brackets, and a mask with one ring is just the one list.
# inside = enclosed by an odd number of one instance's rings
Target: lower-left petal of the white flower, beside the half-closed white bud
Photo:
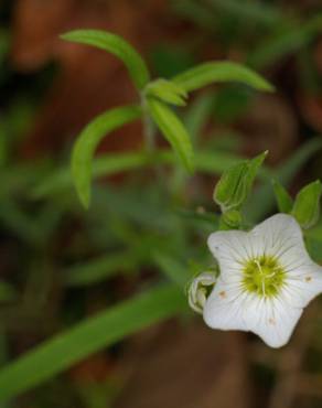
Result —
[[218, 279], [204, 307], [205, 323], [212, 329], [247, 331], [240, 308], [244, 298], [238, 287]]

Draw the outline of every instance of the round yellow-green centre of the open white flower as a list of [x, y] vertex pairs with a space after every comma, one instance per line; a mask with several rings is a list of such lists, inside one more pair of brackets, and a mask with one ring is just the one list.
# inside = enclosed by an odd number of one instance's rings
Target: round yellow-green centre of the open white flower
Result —
[[277, 296], [285, 283], [286, 272], [271, 256], [247, 260], [243, 272], [244, 289], [261, 297]]

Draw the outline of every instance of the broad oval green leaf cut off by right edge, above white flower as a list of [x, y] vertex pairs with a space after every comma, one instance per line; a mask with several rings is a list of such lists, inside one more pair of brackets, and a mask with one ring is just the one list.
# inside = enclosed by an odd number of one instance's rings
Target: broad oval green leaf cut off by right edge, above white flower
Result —
[[320, 216], [320, 198], [322, 184], [316, 180], [305, 185], [297, 195], [292, 215], [302, 228], [312, 227]]

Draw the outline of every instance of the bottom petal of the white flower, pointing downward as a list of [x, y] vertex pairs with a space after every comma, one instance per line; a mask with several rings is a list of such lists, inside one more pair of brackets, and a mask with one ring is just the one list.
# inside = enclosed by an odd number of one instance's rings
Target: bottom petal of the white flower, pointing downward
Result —
[[245, 320], [248, 330], [259, 335], [270, 347], [278, 348], [290, 340], [302, 311], [279, 298], [257, 297], [248, 303]]

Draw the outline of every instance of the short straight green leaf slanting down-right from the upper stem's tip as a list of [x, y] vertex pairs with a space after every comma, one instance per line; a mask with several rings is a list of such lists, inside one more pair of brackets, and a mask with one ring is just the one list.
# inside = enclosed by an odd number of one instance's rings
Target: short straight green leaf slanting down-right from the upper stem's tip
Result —
[[147, 106], [152, 119], [170, 142], [186, 170], [193, 172], [193, 148], [185, 127], [178, 116], [161, 101], [154, 98], [147, 98]]

